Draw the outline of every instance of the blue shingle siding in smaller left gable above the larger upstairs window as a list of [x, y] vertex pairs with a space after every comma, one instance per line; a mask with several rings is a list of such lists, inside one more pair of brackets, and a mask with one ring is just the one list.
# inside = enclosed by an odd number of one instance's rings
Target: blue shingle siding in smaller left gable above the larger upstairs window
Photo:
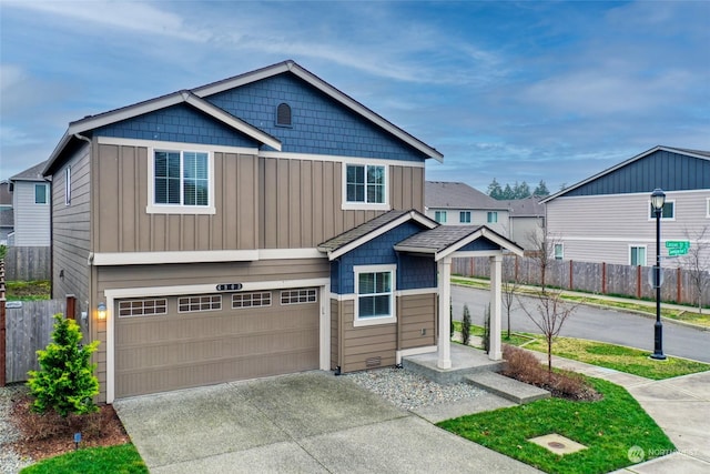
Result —
[[111, 123], [94, 135], [225, 147], [257, 148], [260, 143], [185, 103]]

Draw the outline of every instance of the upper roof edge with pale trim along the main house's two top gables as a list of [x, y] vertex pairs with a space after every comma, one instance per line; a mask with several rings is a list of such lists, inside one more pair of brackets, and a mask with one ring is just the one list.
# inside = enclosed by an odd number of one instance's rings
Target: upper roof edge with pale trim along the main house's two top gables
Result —
[[230, 114], [223, 109], [210, 103], [204, 98], [223, 92], [230, 89], [237, 88], [240, 85], [248, 84], [262, 79], [271, 78], [284, 72], [291, 72], [292, 74], [301, 78], [308, 84], [324, 92], [329, 98], [347, 107], [355, 113], [359, 114], [364, 119], [371, 121], [375, 125], [384, 129], [388, 133], [393, 134], [397, 139], [420, 151], [429, 158], [434, 158], [437, 161], [443, 161], [444, 155], [436, 149], [427, 145], [423, 141], [416, 139], [412, 134], [405, 132], [400, 128], [396, 127], [392, 122], [385, 120], [379, 114], [373, 112], [362, 103], [357, 102], [349, 95], [328, 84], [317, 75], [302, 68], [292, 60], [283, 61], [266, 68], [257, 69], [252, 72], [235, 75], [233, 78], [224, 79], [222, 81], [213, 82], [206, 85], [201, 85], [192, 90], [182, 90], [173, 92], [166, 95], [162, 95], [155, 99], [150, 99], [143, 102], [139, 102], [132, 105], [115, 109], [109, 112], [100, 113], [97, 115], [89, 115], [84, 119], [71, 122], [69, 129], [54, 148], [54, 151], [50, 155], [47, 162], [47, 167], [43, 170], [44, 174], [49, 174], [54, 162], [61, 155], [62, 151], [73, 140], [79, 140], [77, 134], [97, 129], [99, 127], [108, 125], [110, 123], [119, 122], [122, 120], [131, 119], [144, 113], [153, 112], [160, 109], [164, 109], [179, 103], [187, 103], [197, 110], [211, 115], [212, 118], [221, 121], [222, 123], [232, 127], [233, 129], [253, 138], [254, 140], [267, 144], [268, 147], [281, 150], [281, 142], [271, 134], [248, 124], [247, 122]]

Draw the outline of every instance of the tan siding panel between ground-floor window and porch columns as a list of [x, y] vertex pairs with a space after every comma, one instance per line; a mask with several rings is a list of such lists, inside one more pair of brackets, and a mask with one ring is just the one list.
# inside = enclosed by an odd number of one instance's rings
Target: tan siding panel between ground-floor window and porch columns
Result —
[[[402, 325], [399, 349], [436, 344], [436, 293], [399, 296], [398, 300]], [[426, 331], [425, 335], [422, 335], [422, 330]]]

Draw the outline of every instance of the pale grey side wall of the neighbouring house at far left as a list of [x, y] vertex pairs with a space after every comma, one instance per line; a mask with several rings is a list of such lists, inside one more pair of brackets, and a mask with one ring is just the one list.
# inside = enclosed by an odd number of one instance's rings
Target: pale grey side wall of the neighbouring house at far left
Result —
[[[34, 203], [34, 185], [47, 186], [47, 204]], [[14, 245], [45, 246], [50, 239], [51, 183], [49, 181], [16, 181], [12, 191], [14, 208]], [[62, 199], [63, 202], [63, 199]]]

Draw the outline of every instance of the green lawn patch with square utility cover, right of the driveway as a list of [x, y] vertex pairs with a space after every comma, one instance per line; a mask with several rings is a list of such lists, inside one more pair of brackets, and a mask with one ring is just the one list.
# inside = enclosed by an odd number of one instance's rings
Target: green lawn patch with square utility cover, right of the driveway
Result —
[[[604, 394], [604, 400], [547, 399], [448, 420], [438, 426], [549, 473], [619, 470], [633, 464], [628, 456], [632, 446], [640, 446], [648, 454], [674, 450], [625, 389], [598, 379], [587, 380]], [[550, 433], [581, 443], [587, 450], [560, 456], [527, 441]]]

